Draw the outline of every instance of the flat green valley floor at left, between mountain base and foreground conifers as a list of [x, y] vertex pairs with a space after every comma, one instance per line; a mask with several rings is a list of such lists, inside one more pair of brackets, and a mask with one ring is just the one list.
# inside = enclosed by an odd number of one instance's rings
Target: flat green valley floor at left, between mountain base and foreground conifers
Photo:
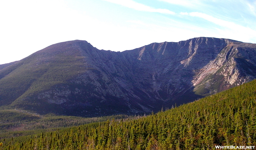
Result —
[[38, 115], [24, 110], [0, 110], [0, 138], [25, 136], [57, 128], [73, 127], [92, 122], [103, 122], [115, 118], [133, 118], [128, 115], [112, 115], [103, 117], [59, 116], [54, 114]]

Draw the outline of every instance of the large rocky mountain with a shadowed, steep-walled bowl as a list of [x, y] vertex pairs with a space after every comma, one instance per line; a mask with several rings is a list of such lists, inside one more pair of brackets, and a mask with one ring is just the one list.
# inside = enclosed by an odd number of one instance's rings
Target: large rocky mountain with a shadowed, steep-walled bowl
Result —
[[57, 43], [0, 65], [0, 105], [37, 113], [158, 111], [256, 78], [256, 44], [199, 37], [123, 51]]

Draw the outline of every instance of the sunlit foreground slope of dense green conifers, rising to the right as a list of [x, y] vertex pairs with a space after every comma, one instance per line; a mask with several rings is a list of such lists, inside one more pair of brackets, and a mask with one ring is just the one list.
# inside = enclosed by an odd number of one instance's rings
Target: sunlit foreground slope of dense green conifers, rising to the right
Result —
[[[256, 146], [256, 80], [136, 120], [1, 140], [2, 149], [176, 150]], [[0, 149], [1, 149], [0, 148]]]

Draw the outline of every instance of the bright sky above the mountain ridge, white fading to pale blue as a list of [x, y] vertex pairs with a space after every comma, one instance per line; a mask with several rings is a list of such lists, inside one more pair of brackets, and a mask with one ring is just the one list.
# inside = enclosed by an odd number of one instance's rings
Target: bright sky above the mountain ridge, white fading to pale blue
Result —
[[194, 37], [256, 43], [256, 0], [0, 2], [0, 64], [71, 40], [125, 51]]

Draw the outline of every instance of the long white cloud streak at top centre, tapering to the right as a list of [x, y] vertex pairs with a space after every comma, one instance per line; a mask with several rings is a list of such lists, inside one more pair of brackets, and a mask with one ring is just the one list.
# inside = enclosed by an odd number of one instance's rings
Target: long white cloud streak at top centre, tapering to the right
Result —
[[168, 9], [156, 9], [156, 8], [152, 8], [150, 6], [146, 6], [144, 4], [134, 2], [132, 0], [104, 0], [104, 1], [111, 2], [114, 4], [120, 4], [122, 6], [126, 6], [128, 8], [132, 8], [132, 9], [135, 9], [138, 11], [159, 12], [159, 13], [163, 13], [163, 14], [175, 14], [175, 12], [172, 12]]

